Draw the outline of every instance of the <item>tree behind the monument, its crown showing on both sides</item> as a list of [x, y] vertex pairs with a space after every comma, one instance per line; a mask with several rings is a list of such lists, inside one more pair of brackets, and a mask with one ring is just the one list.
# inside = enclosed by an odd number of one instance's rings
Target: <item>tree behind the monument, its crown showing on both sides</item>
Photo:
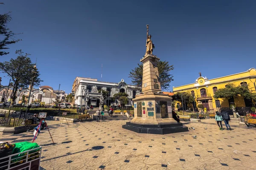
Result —
[[[173, 65], [169, 65], [167, 61], [158, 61], [157, 68], [159, 73], [159, 81], [162, 90], [167, 90], [170, 87], [170, 83], [173, 81], [173, 76], [170, 71], [174, 69]], [[131, 83], [137, 88], [142, 88], [143, 77], [143, 64], [138, 64], [138, 67], [131, 70], [129, 77], [131, 77]]]

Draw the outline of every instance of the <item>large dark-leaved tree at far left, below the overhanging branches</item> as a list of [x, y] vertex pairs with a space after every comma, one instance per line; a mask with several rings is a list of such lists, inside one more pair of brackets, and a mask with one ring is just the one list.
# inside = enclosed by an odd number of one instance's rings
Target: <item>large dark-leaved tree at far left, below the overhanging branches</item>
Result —
[[23, 55], [21, 50], [16, 50], [15, 54], [18, 54], [16, 59], [10, 59], [9, 62], [0, 62], [0, 71], [11, 77], [13, 82], [12, 101], [16, 99], [17, 90], [19, 88], [27, 88], [31, 84], [32, 77], [32, 86], [38, 86], [40, 82], [42, 82], [39, 78], [40, 74], [38, 69], [28, 57], [30, 54], [26, 53]]

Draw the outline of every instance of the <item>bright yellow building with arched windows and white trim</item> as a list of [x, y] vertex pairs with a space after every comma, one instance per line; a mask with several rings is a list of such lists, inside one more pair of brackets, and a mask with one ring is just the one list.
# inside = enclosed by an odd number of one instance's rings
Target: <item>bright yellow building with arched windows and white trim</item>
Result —
[[[201, 73], [200, 73], [201, 74]], [[231, 104], [236, 105], [238, 112], [247, 113], [250, 107], [253, 106], [252, 101], [238, 96], [235, 99], [214, 99], [214, 93], [220, 88], [225, 88], [226, 85], [232, 83], [238, 85], [248, 85], [248, 88], [253, 92], [256, 92], [256, 69], [250, 68], [249, 70], [237, 74], [232, 74], [224, 77], [218, 77], [215, 79], [207, 79], [206, 77], [198, 77], [194, 83], [188, 85], [182, 85], [173, 87], [173, 93], [177, 92], [189, 92], [194, 96], [195, 105], [202, 104], [204, 108], [207, 108], [207, 112], [213, 113], [219, 111], [220, 108], [229, 110]], [[177, 103], [178, 107], [181, 103]], [[175, 106], [176, 107], [176, 106]], [[182, 107], [180, 105], [180, 107]], [[248, 107], [248, 108], [247, 108]], [[184, 108], [185, 109], [185, 108]]]

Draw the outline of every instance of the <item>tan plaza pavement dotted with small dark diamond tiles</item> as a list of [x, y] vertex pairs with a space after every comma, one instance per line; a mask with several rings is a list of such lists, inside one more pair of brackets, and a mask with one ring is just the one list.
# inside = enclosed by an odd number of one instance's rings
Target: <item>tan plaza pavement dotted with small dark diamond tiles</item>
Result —
[[[231, 122], [219, 130], [214, 119], [186, 123], [189, 132], [139, 134], [122, 129], [127, 120], [49, 125], [38, 142], [46, 170], [255, 170], [256, 129]], [[207, 127], [207, 129], [205, 129]], [[192, 136], [197, 136], [193, 138]], [[30, 141], [32, 131], [0, 136], [0, 141]]]

